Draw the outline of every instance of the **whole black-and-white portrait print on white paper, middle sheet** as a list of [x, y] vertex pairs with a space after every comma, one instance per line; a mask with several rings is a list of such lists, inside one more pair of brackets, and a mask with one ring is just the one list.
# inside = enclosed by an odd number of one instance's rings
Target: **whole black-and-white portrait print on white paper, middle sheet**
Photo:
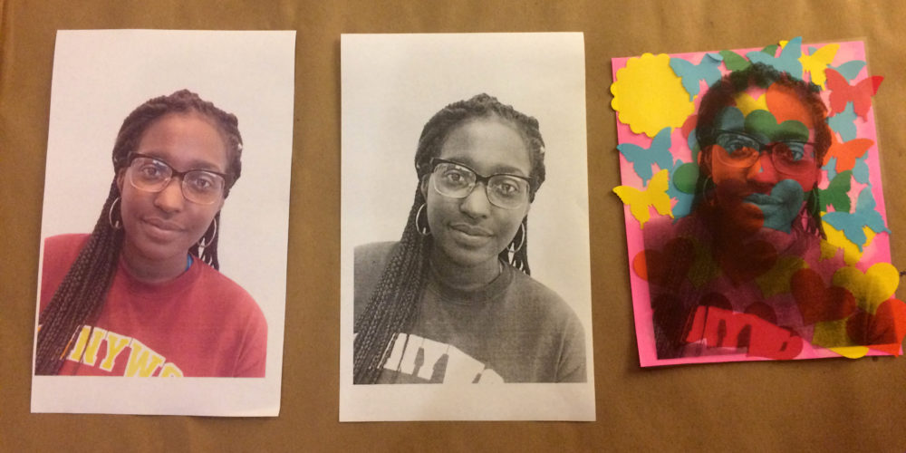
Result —
[[594, 419], [582, 34], [344, 34], [340, 419]]

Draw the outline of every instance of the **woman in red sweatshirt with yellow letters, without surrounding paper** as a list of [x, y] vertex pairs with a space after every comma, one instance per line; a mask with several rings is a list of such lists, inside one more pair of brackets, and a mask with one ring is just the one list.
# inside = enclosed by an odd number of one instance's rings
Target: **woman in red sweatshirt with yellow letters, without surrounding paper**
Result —
[[236, 116], [188, 90], [123, 120], [94, 230], [44, 241], [35, 374], [265, 376], [265, 316], [217, 271], [242, 145]]

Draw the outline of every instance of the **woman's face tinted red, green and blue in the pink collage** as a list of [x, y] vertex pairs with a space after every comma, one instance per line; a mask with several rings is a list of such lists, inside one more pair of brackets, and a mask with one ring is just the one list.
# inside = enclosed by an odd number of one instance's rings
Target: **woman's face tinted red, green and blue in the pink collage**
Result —
[[[805, 202], [805, 192], [814, 188], [819, 177], [820, 162], [814, 156], [814, 147], [802, 144], [814, 142], [812, 120], [790, 92], [749, 88], [743, 95], [751, 99], [765, 95], [767, 99], [747, 107], [741, 95], [737, 106], [718, 113], [715, 127], [722, 131], [718, 131], [718, 143], [704, 158], [710, 166], [718, 204], [737, 221], [746, 222], [747, 229], [764, 226], [789, 232]], [[748, 150], [758, 147], [757, 143], [778, 142], [789, 143], [791, 155], [799, 160], [792, 164], [788, 163], [790, 159], [783, 160], [784, 153], [776, 145], [771, 151], [762, 150], [752, 162], [730, 158], [742, 152], [757, 153], [757, 149]], [[740, 143], [754, 146], [741, 147]], [[733, 150], [737, 147], [741, 148]]]

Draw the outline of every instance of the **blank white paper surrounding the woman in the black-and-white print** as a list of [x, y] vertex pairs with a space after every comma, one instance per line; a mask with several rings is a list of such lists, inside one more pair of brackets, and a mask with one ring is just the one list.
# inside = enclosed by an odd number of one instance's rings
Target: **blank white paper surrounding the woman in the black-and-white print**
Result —
[[[341, 73], [341, 421], [593, 420], [583, 34], [344, 34]], [[540, 123], [547, 178], [529, 262], [583, 323], [587, 382], [353, 385], [353, 248], [400, 239], [423, 126], [481, 92]]]

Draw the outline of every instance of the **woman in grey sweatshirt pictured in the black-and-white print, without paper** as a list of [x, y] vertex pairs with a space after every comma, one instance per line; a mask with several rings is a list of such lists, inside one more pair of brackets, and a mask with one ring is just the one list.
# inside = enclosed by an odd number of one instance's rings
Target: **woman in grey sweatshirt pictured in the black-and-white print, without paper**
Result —
[[530, 276], [538, 121], [484, 93], [455, 101], [414, 163], [400, 241], [355, 248], [354, 383], [586, 381], [582, 323]]

